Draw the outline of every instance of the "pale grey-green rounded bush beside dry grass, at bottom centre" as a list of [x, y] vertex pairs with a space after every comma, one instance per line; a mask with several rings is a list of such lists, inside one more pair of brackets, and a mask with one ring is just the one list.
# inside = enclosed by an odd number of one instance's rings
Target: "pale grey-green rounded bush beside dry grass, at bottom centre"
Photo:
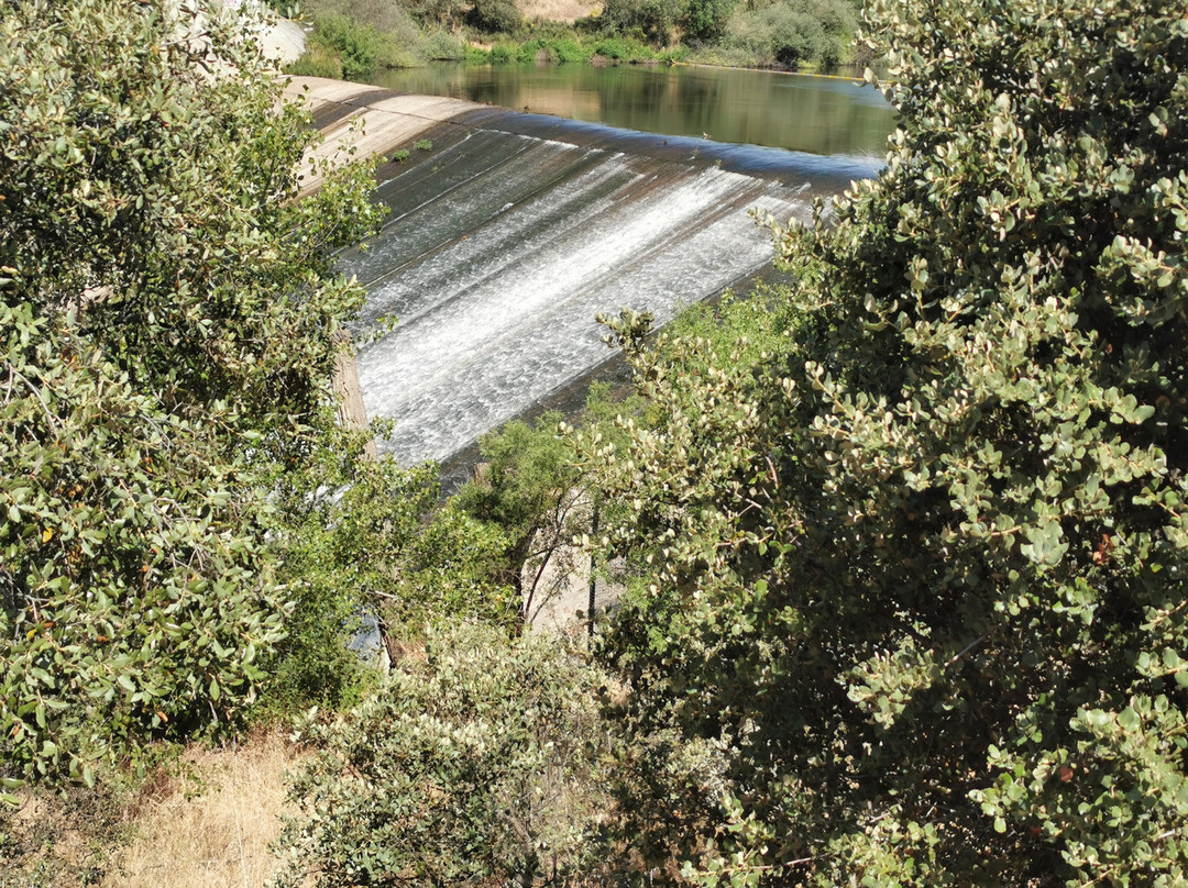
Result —
[[560, 641], [480, 627], [434, 633], [425, 653], [304, 730], [316, 751], [292, 780], [278, 884], [593, 883], [605, 677]]

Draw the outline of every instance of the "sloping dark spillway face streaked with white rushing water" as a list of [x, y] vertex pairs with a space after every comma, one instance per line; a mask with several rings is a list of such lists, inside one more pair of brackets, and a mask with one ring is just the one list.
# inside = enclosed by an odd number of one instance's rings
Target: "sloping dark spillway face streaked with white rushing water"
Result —
[[404, 464], [446, 459], [609, 357], [600, 312], [664, 323], [753, 273], [772, 247], [750, 211], [808, 221], [819, 190], [671, 146], [448, 126], [415, 166], [386, 167], [388, 221], [342, 258], [369, 292], [364, 400], [396, 420], [380, 449]]

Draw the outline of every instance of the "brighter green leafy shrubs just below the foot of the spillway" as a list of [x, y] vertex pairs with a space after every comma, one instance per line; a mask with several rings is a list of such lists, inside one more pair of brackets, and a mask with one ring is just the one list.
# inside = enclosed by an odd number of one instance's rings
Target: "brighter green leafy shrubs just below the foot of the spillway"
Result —
[[289, 636], [264, 662], [268, 715], [356, 703], [374, 671], [343, 642], [371, 634], [365, 624], [397, 655], [443, 622], [517, 624], [508, 531], [442, 506], [435, 465], [361, 458], [364, 444], [361, 433], [328, 430], [304, 470], [276, 487], [285, 516], [278, 578], [293, 608]]

